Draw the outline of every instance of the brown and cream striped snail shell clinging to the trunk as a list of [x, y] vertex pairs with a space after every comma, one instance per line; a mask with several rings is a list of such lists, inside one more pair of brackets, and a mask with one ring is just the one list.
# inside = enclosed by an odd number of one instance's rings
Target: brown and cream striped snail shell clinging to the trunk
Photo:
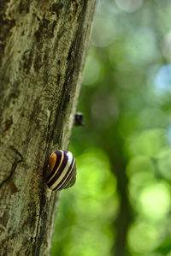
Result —
[[50, 172], [47, 185], [52, 190], [62, 190], [74, 185], [76, 181], [76, 164], [71, 152], [57, 150], [49, 158]]

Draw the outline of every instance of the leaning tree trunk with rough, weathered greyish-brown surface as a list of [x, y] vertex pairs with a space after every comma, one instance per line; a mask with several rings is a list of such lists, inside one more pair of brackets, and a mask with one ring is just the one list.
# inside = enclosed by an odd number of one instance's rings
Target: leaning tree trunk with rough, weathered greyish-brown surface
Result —
[[95, 2], [1, 0], [0, 255], [50, 253], [47, 158], [68, 147]]

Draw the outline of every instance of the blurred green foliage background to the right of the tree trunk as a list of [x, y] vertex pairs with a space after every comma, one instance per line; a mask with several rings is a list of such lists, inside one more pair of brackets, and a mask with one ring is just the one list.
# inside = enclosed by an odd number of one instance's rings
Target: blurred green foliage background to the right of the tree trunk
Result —
[[99, 0], [52, 256], [171, 256], [171, 2]]

